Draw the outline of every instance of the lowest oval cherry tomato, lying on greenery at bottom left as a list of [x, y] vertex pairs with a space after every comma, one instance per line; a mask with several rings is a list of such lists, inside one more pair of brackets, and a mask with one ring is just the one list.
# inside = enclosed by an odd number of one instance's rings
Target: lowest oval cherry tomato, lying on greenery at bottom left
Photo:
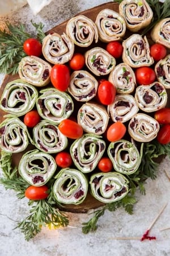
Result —
[[25, 190], [25, 197], [27, 197], [30, 200], [41, 200], [48, 197], [48, 187], [46, 185], [43, 185], [41, 187], [35, 187], [35, 186], [29, 186]]

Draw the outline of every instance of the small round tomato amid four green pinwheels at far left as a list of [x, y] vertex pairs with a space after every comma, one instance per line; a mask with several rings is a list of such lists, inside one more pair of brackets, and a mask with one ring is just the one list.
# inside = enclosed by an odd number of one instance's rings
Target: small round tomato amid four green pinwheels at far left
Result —
[[40, 122], [40, 115], [37, 110], [31, 110], [27, 114], [24, 115], [24, 123], [28, 127], [32, 128]]

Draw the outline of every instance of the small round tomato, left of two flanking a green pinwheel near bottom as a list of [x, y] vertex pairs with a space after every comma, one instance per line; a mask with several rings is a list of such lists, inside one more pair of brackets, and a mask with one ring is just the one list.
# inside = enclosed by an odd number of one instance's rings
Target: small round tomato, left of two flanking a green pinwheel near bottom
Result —
[[70, 167], [71, 164], [73, 163], [71, 155], [65, 151], [59, 152], [56, 155], [55, 160], [56, 160], [57, 166], [62, 167], [62, 168]]

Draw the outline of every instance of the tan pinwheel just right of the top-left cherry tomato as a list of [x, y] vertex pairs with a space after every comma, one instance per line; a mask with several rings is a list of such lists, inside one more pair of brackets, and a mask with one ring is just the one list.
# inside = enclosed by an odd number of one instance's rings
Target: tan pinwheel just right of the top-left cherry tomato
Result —
[[42, 54], [52, 64], [64, 64], [74, 53], [74, 43], [63, 33], [55, 32], [45, 36], [42, 42]]

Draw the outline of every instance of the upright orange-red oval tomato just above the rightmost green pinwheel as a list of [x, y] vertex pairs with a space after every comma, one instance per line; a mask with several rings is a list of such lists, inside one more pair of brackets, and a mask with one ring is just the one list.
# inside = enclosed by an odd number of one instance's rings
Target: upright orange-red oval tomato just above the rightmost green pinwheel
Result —
[[122, 139], [126, 133], [126, 126], [124, 123], [116, 122], [112, 123], [107, 130], [108, 141], [115, 142]]

